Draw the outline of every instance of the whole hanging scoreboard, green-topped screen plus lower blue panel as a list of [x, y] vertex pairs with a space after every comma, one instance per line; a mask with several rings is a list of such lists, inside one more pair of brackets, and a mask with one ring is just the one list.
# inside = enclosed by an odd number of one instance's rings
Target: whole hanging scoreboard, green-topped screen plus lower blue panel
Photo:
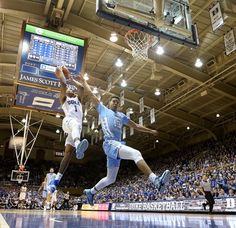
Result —
[[[72, 76], [83, 70], [86, 39], [24, 24], [18, 53], [15, 105], [21, 108], [61, 112], [57, 66], [66, 66]], [[27, 96], [22, 99], [22, 94]], [[49, 102], [50, 101], [50, 102]]]

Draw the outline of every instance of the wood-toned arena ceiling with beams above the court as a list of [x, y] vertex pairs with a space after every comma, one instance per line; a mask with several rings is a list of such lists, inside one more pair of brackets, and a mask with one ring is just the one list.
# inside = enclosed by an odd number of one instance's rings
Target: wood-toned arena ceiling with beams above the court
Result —
[[[9, 113], [23, 117], [25, 110], [12, 107], [16, 83], [16, 59], [24, 20], [44, 26], [50, 18], [52, 6], [64, 10], [64, 23], [59, 31], [73, 36], [88, 38], [85, 71], [89, 83], [107, 91], [107, 79], [113, 77], [110, 93], [119, 94], [121, 74], [125, 73], [128, 86], [125, 88], [125, 107], [132, 107], [138, 121], [139, 99], [144, 97], [144, 123], [159, 131], [162, 146], [177, 148], [184, 139], [196, 134], [216, 136], [216, 127], [235, 121], [236, 110], [236, 54], [225, 55], [223, 35], [236, 26], [236, 6], [231, 1], [224, 5], [224, 25], [212, 32], [209, 8], [212, 0], [190, 0], [193, 22], [197, 23], [200, 46], [191, 49], [170, 41], [161, 40], [165, 54], [157, 56], [149, 51], [149, 60], [137, 62], [132, 58], [124, 35], [129, 28], [99, 18], [95, 13], [95, 0], [1, 0], [0, 2], [0, 129], [9, 128]], [[118, 32], [117, 43], [109, 41], [112, 31]], [[204, 61], [201, 69], [194, 67], [197, 57]], [[124, 67], [117, 69], [117, 58], [124, 61]], [[153, 65], [156, 71], [153, 72]], [[154, 73], [154, 74], [153, 74]], [[160, 88], [162, 95], [154, 95]], [[149, 111], [158, 110], [157, 123], [149, 124]], [[219, 113], [220, 118], [216, 118]], [[90, 113], [93, 115], [93, 112]], [[55, 129], [61, 119], [54, 115], [33, 112], [33, 119], [44, 118], [42, 134], [58, 138]], [[45, 124], [46, 123], [46, 124]], [[234, 122], [235, 123], [235, 122]], [[189, 126], [190, 130], [186, 127]], [[135, 134], [128, 137], [131, 144], [142, 150], [149, 150], [153, 137]], [[151, 144], [150, 144], [151, 143]]]

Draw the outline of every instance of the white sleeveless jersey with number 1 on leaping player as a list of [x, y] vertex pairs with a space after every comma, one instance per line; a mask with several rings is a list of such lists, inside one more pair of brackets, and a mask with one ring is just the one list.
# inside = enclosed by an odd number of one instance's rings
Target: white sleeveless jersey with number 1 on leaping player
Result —
[[65, 117], [76, 118], [78, 121], [82, 122], [83, 110], [82, 105], [78, 97], [66, 97], [62, 109], [65, 113]]

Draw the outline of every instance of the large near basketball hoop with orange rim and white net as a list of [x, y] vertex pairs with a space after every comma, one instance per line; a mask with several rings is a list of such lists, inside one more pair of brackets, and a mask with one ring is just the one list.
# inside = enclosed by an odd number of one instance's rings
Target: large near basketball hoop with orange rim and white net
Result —
[[153, 36], [138, 29], [131, 29], [125, 34], [127, 44], [132, 48], [132, 56], [137, 60], [148, 59], [148, 49], [154, 42]]

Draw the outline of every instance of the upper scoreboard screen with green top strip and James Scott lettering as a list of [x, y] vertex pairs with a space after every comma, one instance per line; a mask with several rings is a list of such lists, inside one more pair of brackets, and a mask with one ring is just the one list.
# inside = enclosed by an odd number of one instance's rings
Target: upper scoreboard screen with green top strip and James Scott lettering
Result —
[[66, 66], [77, 75], [85, 56], [85, 39], [25, 24], [19, 49], [18, 83], [58, 89], [54, 73], [57, 66]]

